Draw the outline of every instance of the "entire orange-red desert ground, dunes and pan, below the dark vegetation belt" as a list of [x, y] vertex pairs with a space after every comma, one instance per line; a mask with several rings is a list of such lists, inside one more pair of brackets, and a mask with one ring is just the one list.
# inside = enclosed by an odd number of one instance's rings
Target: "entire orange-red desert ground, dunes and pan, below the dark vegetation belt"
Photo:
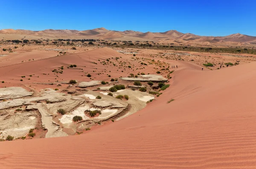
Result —
[[255, 54], [71, 47], [0, 44], [0, 168], [256, 167]]

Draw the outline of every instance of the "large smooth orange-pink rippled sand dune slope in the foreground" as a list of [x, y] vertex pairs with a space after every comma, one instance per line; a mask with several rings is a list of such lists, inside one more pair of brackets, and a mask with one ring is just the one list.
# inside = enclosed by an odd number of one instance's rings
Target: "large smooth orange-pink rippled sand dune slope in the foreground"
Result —
[[0, 142], [0, 168], [256, 168], [255, 74], [256, 63], [183, 69], [125, 119], [82, 135]]

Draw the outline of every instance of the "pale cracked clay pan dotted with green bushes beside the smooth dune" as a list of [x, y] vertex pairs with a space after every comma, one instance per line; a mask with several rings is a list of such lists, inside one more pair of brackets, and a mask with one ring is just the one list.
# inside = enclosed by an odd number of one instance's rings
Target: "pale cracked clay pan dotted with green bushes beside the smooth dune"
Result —
[[[134, 85], [134, 81], [142, 84]], [[160, 95], [154, 92], [158, 83], [166, 81], [160, 75], [149, 74], [107, 84], [97, 80], [75, 82], [62, 91], [0, 88], [0, 139], [62, 137], [112, 123], [143, 109], [156, 94]]]

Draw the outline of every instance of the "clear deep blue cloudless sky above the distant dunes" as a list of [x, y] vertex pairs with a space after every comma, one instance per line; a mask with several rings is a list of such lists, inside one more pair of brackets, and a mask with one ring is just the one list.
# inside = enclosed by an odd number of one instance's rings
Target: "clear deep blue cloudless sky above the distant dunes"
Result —
[[256, 36], [256, 0], [2, 0], [0, 29]]

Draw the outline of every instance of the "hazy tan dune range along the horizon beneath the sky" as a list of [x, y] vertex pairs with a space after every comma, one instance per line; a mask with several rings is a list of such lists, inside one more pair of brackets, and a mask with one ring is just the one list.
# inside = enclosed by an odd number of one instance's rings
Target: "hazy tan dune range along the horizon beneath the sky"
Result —
[[112, 31], [105, 28], [96, 28], [92, 30], [54, 30], [46, 29], [43, 31], [30, 31], [21, 29], [2, 29], [0, 30], [0, 39], [15, 40], [26, 38], [32, 39], [101, 39], [101, 40], [131, 40], [131, 41], [161, 41], [163, 43], [183, 43], [183, 44], [237, 44], [253, 45], [256, 44], [256, 37], [244, 34], [230, 34], [228, 36], [199, 36], [190, 33], [181, 33], [176, 30], [167, 32], [136, 32]]

